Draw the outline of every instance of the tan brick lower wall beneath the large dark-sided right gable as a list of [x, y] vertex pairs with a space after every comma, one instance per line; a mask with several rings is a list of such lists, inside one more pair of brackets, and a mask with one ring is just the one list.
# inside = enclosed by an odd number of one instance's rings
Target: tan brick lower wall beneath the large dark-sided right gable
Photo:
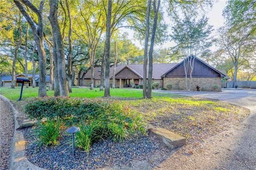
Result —
[[[166, 84], [172, 84], [172, 90], [177, 90], [177, 82], [179, 82], [179, 87], [186, 90], [186, 79], [185, 78], [166, 78], [164, 77], [164, 88]], [[190, 84], [190, 78], [188, 78], [188, 87]], [[212, 85], [219, 85], [219, 88], [214, 90], [215, 92], [221, 92], [221, 77], [202, 77], [202, 78], [193, 78], [191, 91], [196, 91], [196, 86], [200, 86], [200, 91], [202, 88], [206, 88], [205, 91], [213, 91]]]

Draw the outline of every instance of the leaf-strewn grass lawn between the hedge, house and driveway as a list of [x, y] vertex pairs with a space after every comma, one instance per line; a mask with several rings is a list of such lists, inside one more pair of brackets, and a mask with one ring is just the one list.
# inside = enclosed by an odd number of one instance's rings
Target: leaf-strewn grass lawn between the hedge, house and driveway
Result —
[[[17, 102], [20, 88], [1, 88], [1, 94], [24, 108], [25, 104], [37, 97], [38, 88], [24, 88], [22, 101]], [[54, 91], [47, 91], [53, 96]], [[122, 106], [142, 113], [144, 120], [154, 127], [162, 127], [187, 138], [189, 143], [204, 141], [209, 136], [222, 132], [232, 126], [238, 126], [250, 111], [244, 107], [192, 98], [176, 94], [152, 93], [153, 98], [142, 99], [142, 90], [111, 89], [111, 97]], [[104, 96], [98, 88], [72, 88], [70, 97], [96, 98]], [[24, 109], [21, 109], [24, 111]]]

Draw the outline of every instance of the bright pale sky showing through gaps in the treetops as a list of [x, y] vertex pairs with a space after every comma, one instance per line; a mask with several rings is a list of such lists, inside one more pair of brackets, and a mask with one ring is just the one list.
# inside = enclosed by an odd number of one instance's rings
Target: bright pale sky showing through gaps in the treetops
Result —
[[[209, 18], [208, 24], [213, 25], [214, 31], [212, 32], [212, 35], [216, 34], [216, 30], [220, 26], [224, 25], [224, 18], [222, 16], [222, 11], [226, 6], [226, 2], [227, 2], [227, 0], [219, 0], [218, 2], [214, 3], [212, 10], [209, 10], [208, 14], [206, 15]], [[168, 24], [171, 23], [167, 14], [165, 15], [164, 18], [165, 18], [166, 23], [168, 23]], [[142, 45], [140, 45], [140, 42], [138, 40], [133, 39], [134, 32], [132, 30], [124, 28], [121, 32], [124, 32], [124, 31], [129, 33], [129, 36], [130, 36], [129, 38], [132, 39], [132, 41], [136, 44], [136, 46], [140, 47], [140, 49], [143, 48]], [[169, 33], [171, 32], [171, 27], [169, 27], [168, 32]], [[155, 46], [155, 48], [168, 48], [168, 47], [172, 47], [174, 45], [175, 45], [174, 42], [168, 41], [161, 46]], [[216, 50], [216, 47], [212, 47], [211, 50], [212, 51]]]

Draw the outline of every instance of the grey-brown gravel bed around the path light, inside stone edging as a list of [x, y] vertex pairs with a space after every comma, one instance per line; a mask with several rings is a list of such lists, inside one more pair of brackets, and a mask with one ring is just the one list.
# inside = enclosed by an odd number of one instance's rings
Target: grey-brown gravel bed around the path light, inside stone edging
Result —
[[[138, 161], [146, 161], [152, 167], [168, 158], [170, 149], [162, 146], [156, 137], [132, 136], [122, 143], [111, 140], [94, 143], [90, 153], [75, 148], [72, 156], [72, 135], [62, 132], [58, 146], [39, 147], [33, 129], [23, 129], [26, 140], [26, 157], [33, 164], [50, 170], [98, 169], [113, 166], [128, 166]], [[153, 156], [154, 155], [154, 156]]]

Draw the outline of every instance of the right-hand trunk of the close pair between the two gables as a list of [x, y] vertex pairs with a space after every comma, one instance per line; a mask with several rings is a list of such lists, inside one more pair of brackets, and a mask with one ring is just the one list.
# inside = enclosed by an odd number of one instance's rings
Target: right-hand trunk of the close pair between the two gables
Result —
[[158, 18], [158, 11], [160, 7], [160, 0], [158, 0], [158, 5], [156, 8], [156, 1], [153, 1], [154, 7], [154, 25], [152, 29], [152, 35], [150, 40], [150, 49], [148, 53], [148, 92], [147, 98], [152, 98], [152, 74], [153, 74], [153, 51], [154, 51], [154, 42], [155, 42], [155, 35], [156, 35], [156, 25], [157, 25], [157, 18]]

